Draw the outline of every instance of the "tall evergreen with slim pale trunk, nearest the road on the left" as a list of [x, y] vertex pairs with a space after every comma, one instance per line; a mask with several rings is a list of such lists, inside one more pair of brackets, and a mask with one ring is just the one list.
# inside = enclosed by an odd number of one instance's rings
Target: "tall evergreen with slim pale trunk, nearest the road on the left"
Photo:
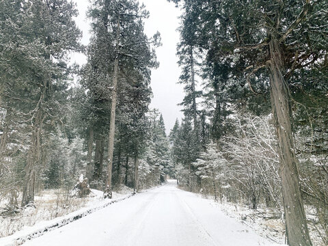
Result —
[[[159, 44], [159, 33], [156, 33], [151, 40], [143, 33], [143, 19], [148, 18], [149, 14], [144, 10], [143, 5], [139, 6], [135, 0], [95, 1], [90, 10], [90, 16], [96, 27], [96, 38], [102, 44], [100, 46], [107, 47], [105, 54], [98, 54], [100, 57], [103, 55], [105, 61], [110, 64], [107, 70], [102, 72], [107, 74], [107, 84], [111, 90], [107, 189], [105, 191], [105, 196], [111, 197], [118, 81], [126, 77], [126, 73], [130, 71], [138, 74], [137, 77], [141, 76], [143, 81], [150, 81], [150, 68], [158, 66], [151, 45]], [[135, 163], [137, 163], [138, 148], [136, 143]]]

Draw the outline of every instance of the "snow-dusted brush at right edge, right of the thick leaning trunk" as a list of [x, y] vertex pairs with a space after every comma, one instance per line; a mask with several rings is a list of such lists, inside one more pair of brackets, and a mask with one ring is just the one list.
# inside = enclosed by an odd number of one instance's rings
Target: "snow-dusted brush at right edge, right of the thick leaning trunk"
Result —
[[313, 105], [308, 112], [303, 105], [298, 106], [296, 147], [301, 189], [306, 204], [317, 215], [317, 221], [311, 221], [310, 226], [328, 243], [328, 125], [327, 115], [323, 113], [328, 105]]

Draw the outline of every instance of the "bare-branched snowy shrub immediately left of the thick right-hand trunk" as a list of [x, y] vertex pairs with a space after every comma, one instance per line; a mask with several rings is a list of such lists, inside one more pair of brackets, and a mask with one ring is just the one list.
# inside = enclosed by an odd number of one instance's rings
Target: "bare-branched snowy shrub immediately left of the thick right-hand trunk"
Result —
[[235, 133], [222, 140], [223, 152], [230, 159], [231, 185], [253, 209], [260, 200], [280, 208], [279, 157], [271, 115], [236, 115], [234, 127]]

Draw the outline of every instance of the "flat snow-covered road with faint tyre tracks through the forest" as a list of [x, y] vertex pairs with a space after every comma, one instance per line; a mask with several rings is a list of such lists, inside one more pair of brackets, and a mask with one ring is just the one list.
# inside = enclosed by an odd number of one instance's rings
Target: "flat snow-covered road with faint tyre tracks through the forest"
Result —
[[83, 217], [24, 245], [272, 245], [175, 180]]

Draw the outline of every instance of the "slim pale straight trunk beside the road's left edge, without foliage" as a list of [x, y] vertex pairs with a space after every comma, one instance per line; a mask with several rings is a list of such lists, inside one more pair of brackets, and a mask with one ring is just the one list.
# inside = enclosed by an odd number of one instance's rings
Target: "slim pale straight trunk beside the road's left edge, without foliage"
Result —
[[111, 97], [111, 122], [109, 122], [109, 141], [108, 141], [108, 172], [107, 172], [107, 188], [104, 197], [111, 198], [111, 174], [113, 168], [113, 151], [114, 151], [114, 137], [115, 137], [115, 112], [118, 88], [118, 45], [120, 44], [120, 14], [118, 14], [118, 23], [116, 31], [116, 51], [114, 61], [113, 73], [113, 94]]

